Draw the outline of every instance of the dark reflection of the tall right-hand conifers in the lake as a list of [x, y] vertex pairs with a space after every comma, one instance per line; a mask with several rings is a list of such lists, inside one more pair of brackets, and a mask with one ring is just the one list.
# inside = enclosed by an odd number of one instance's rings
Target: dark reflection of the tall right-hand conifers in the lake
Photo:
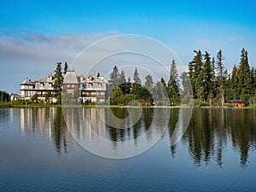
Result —
[[[250, 150], [256, 148], [255, 109], [197, 108], [194, 109], [183, 142], [196, 165], [216, 160], [222, 166], [224, 148], [230, 143], [240, 154], [241, 166], [247, 166]], [[172, 131], [172, 127], [170, 127]], [[175, 148], [172, 148], [172, 155]]]

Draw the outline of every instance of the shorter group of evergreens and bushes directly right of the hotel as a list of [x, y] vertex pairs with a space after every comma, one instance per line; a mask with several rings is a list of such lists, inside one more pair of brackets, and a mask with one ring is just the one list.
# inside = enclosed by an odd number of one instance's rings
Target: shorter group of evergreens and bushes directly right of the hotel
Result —
[[134, 100], [155, 105], [178, 105], [180, 90], [175, 60], [172, 61], [170, 78], [167, 83], [161, 78], [154, 84], [152, 76], [148, 74], [145, 77], [145, 83], [142, 84], [137, 67], [133, 74], [133, 83], [131, 83], [130, 77], [126, 80], [123, 70], [119, 72], [118, 67], [113, 67], [108, 82], [108, 96], [111, 105], [127, 105]]

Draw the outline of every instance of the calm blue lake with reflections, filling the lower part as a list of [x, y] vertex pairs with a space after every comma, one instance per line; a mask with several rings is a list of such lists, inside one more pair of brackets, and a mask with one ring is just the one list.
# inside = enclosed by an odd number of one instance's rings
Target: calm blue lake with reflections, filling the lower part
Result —
[[256, 110], [191, 110], [0, 108], [0, 189], [255, 191]]

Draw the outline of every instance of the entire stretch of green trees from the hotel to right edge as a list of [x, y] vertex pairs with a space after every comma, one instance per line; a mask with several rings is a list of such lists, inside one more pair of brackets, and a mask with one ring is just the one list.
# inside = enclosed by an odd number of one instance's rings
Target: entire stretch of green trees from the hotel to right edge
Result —
[[200, 106], [223, 106], [234, 99], [241, 100], [247, 106], [256, 105], [256, 70], [249, 65], [247, 50], [241, 50], [239, 64], [233, 67], [231, 73], [224, 67], [221, 49], [216, 58], [207, 51], [202, 53], [201, 50], [194, 50], [194, 53], [187, 73], [179, 75], [176, 61], [172, 60], [169, 79], [161, 78], [156, 83], [152, 76], [147, 75], [142, 84], [137, 68], [131, 83], [131, 78], [125, 79], [124, 71], [119, 72], [118, 67], [113, 67], [108, 89], [110, 104], [127, 105], [132, 100], [138, 100], [176, 106], [186, 101], [186, 96], [191, 96], [195, 105]]

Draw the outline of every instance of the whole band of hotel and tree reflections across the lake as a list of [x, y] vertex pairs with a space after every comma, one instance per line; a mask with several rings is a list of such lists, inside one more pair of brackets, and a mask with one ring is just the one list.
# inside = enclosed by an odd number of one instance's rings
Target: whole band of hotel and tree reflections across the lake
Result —
[[[154, 137], [159, 137], [165, 131], [166, 116], [168, 119], [168, 134], [172, 157], [175, 158], [178, 145], [172, 145], [172, 135], [179, 122], [179, 108], [165, 112], [164, 108], [143, 108], [143, 116], [135, 125], [129, 121], [116, 129], [105, 124], [109, 120], [108, 112], [101, 108], [79, 108], [68, 111], [70, 118], [63, 120], [61, 108], [21, 108], [21, 134], [26, 137], [41, 135], [55, 143], [58, 154], [67, 153], [68, 145], [75, 143], [73, 137], [79, 138], [79, 143], [101, 144], [102, 138], [111, 142], [114, 152], [124, 150], [124, 143], [130, 143], [131, 148], [139, 148], [150, 143]], [[113, 113], [119, 118], [127, 116], [125, 108], [115, 108]], [[154, 120], [155, 115], [161, 116]], [[88, 123], [90, 125], [88, 125]], [[71, 130], [67, 130], [67, 125]], [[152, 128], [150, 128], [154, 125]], [[241, 166], [247, 166], [251, 151], [256, 149], [256, 110], [235, 108], [195, 108], [182, 140], [188, 146], [188, 153], [195, 165], [208, 164], [215, 160], [218, 166], [224, 163], [224, 155], [228, 146], [240, 154]], [[90, 126], [90, 129], [86, 128]], [[144, 140], [139, 138], [143, 137]], [[94, 146], [96, 147], [96, 146]], [[167, 146], [166, 146], [167, 147]], [[104, 148], [103, 148], [104, 149]], [[225, 149], [225, 150], [224, 150]], [[108, 150], [106, 153], [111, 153]], [[185, 152], [184, 152], [185, 153]]]

